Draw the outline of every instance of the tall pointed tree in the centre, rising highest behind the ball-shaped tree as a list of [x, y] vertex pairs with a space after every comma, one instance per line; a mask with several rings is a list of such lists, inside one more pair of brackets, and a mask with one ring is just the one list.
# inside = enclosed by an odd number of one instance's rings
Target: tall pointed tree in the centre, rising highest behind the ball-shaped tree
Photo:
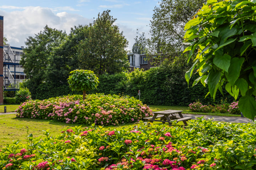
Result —
[[88, 38], [79, 44], [80, 68], [93, 70], [98, 75], [119, 73], [129, 67], [125, 50], [128, 42], [123, 32], [120, 33], [119, 28], [113, 25], [116, 19], [109, 12], [98, 14], [87, 28]]

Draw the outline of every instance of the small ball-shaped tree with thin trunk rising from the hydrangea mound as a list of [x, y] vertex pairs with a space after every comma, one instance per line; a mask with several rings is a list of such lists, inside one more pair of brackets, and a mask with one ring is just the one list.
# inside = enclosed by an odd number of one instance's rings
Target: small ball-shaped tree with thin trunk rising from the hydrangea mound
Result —
[[91, 70], [73, 70], [68, 78], [69, 87], [72, 91], [82, 91], [83, 100], [86, 91], [97, 89], [98, 77]]

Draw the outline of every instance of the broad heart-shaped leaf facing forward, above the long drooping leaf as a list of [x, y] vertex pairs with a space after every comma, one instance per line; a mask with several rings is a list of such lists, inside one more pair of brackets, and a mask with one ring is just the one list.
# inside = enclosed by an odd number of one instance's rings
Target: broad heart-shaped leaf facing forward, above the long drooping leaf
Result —
[[225, 72], [228, 72], [228, 69], [230, 66], [230, 60], [231, 60], [231, 57], [228, 54], [224, 54], [223, 56], [215, 55], [215, 57], [213, 58], [213, 63], [217, 67], [225, 70]]

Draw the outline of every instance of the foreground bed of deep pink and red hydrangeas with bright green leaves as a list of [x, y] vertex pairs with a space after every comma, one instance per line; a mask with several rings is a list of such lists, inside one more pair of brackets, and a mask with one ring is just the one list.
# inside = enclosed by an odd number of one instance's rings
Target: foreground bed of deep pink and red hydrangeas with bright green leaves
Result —
[[0, 149], [1, 169], [256, 169], [256, 125], [192, 120], [180, 126], [138, 123], [121, 129], [75, 127], [59, 136]]

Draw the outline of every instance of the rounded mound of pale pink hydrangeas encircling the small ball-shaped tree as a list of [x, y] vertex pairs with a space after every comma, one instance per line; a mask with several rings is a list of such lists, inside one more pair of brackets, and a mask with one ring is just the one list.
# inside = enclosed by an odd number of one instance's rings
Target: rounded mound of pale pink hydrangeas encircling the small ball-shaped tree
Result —
[[118, 95], [81, 95], [31, 100], [16, 110], [17, 117], [53, 119], [66, 123], [119, 125], [134, 123], [152, 115], [152, 111], [134, 97]]

